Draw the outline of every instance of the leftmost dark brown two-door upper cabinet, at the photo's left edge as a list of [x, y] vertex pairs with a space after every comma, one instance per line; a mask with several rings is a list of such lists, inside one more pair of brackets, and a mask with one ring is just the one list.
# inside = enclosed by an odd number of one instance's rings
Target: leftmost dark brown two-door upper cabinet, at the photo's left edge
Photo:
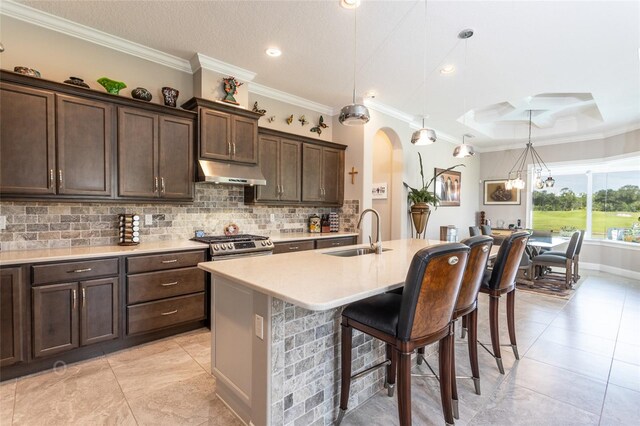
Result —
[[3, 194], [111, 196], [110, 104], [5, 82], [0, 88]]

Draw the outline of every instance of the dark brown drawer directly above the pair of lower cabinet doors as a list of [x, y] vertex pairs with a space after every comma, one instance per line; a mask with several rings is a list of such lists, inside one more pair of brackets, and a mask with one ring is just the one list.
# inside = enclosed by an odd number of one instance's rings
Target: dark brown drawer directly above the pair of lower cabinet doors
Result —
[[118, 275], [118, 259], [53, 263], [34, 265], [31, 268], [34, 285], [59, 281], [76, 282], [87, 278]]

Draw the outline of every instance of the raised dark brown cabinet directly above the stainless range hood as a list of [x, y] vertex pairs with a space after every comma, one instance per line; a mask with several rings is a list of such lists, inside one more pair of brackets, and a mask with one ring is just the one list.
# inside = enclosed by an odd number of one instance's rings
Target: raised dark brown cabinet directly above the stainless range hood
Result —
[[202, 98], [192, 98], [182, 108], [198, 111], [200, 159], [258, 162], [260, 114]]

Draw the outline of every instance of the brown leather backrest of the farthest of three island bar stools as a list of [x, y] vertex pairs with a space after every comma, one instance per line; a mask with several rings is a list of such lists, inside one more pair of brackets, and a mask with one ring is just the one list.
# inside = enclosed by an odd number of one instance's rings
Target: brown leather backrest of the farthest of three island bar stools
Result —
[[528, 232], [514, 232], [500, 245], [491, 278], [489, 278], [490, 289], [505, 290], [514, 285], [528, 239]]

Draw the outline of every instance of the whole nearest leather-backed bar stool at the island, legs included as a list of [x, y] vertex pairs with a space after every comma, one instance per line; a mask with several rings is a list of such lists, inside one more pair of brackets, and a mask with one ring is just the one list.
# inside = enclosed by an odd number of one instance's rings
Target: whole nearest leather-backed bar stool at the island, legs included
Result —
[[[442, 244], [420, 250], [413, 257], [402, 295], [385, 293], [352, 303], [342, 312], [342, 383], [339, 425], [347, 411], [351, 379], [387, 367], [388, 386], [398, 374], [398, 413], [401, 426], [411, 425], [411, 354], [416, 348], [439, 343], [440, 396], [447, 424], [453, 424], [451, 402], [451, 317], [458, 298], [469, 247]], [[387, 345], [387, 360], [351, 375], [351, 337], [360, 330]]]

